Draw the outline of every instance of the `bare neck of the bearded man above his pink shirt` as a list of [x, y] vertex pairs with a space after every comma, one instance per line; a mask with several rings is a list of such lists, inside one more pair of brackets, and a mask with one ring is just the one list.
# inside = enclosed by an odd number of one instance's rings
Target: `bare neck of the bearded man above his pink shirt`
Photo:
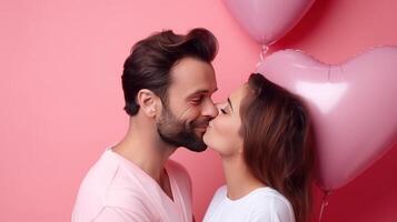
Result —
[[161, 141], [153, 129], [130, 122], [129, 130], [113, 151], [131, 161], [161, 185], [165, 164], [176, 148]]

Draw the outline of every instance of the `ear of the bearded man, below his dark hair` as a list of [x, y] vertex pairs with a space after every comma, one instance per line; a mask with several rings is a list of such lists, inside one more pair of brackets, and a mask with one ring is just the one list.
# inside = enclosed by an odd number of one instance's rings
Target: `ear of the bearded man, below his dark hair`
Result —
[[142, 112], [148, 117], [156, 117], [157, 101], [158, 97], [148, 89], [139, 90], [137, 94], [137, 103], [139, 104]]

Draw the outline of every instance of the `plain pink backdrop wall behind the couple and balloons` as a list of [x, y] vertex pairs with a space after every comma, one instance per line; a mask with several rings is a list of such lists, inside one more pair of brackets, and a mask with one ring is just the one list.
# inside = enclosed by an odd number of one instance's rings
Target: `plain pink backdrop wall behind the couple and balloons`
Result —
[[[397, 44], [396, 11], [395, 0], [317, 0], [272, 50], [343, 62]], [[220, 0], [1, 0], [0, 221], [70, 221], [82, 176], [127, 129], [120, 74], [130, 47], [153, 31], [195, 27], [219, 39], [220, 100], [255, 70], [260, 49]], [[324, 221], [396, 221], [396, 158], [394, 148], [335, 191]], [[224, 183], [219, 158], [179, 150], [173, 159], [191, 174], [200, 221]], [[320, 198], [316, 190], [315, 216]]]

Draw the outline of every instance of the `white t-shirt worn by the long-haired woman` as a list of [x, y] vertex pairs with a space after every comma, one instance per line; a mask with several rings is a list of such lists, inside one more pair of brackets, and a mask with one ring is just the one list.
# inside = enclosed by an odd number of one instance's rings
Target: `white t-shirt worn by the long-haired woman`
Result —
[[247, 195], [230, 200], [226, 185], [215, 193], [204, 222], [295, 222], [289, 201], [269, 186], [259, 188]]

